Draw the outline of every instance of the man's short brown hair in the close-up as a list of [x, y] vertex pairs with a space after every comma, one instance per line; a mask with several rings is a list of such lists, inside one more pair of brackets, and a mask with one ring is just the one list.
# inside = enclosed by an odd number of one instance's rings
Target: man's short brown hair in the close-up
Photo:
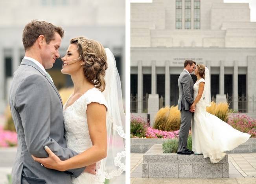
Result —
[[45, 21], [32, 20], [26, 24], [22, 33], [22, 42], [25, 51], [33, 46], [35, 40], [37, 40], [40, 35], [44, 35], [46, 43], [49, 44], [50, 41], [53, 40], [55, 32], [57, 32], [61, 38], [64, 36], [64, 31], [60, 26], [57, 27]]

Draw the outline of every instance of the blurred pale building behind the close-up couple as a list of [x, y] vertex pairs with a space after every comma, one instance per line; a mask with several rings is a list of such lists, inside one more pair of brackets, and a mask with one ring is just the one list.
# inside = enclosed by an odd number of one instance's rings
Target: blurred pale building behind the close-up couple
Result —
[[[123, 98], [125, 97], [124, 0], [0, 1], [0, 114], [9, 103], [9, 87], [13, 73], [25, 54], [22, 31], [33, 19], [45, 20], [63, 27], [61, 56], [65, 55], [69, 40], [76, 36], [98, 40], [104, 47], [111, 49], [116, 58]], [[53, 68], [47, 70], [58, 89], [72, 86], [70, 76], [61, 74], [61, 68], [62, 62], [58, 59]]]

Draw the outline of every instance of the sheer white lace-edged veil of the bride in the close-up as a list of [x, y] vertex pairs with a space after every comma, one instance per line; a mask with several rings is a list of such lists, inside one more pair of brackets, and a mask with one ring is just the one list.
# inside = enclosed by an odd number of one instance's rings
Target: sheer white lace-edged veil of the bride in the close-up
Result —
[[119, 176], [125, 170], [125, 113], [121, 81], [112, 52], [106, 48], [108, 68], [103, 95], [109, 106], [107, 112], [107, 157], [102, 160], [105, 178]]

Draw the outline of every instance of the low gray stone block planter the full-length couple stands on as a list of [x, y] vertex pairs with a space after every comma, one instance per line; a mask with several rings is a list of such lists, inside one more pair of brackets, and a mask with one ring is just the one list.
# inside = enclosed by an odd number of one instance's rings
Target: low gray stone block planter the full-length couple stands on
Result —
[[228, 155], [212, 164], [203, 155], [163, 153], [162, 145], [153, 145], [143, 156], [143, 178], [228, 178]]

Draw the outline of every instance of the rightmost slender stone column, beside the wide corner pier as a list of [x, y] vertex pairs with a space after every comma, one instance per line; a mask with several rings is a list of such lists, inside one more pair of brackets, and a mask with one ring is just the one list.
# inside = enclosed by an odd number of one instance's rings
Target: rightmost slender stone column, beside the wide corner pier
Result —
[[233, 109], [238, 111], [238, 61], [234, 61], [233, 74]]

